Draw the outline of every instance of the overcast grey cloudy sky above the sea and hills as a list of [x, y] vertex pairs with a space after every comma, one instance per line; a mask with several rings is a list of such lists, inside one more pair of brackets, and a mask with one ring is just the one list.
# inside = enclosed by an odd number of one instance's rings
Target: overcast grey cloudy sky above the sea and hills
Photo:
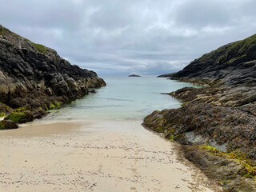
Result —
[[158, 75], [256, 33], [255, 0], [0, 0], [0, 24], [99, 75]]

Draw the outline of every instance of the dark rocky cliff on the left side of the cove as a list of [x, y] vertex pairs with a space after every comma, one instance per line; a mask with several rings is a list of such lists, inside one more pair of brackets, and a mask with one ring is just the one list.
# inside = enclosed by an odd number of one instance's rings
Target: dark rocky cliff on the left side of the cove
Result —
[[43, 113], [101, 86], [106, 83], [94, 71], [70, 65], [55, 50], [0, 26], [0, 114], [22, 106]]

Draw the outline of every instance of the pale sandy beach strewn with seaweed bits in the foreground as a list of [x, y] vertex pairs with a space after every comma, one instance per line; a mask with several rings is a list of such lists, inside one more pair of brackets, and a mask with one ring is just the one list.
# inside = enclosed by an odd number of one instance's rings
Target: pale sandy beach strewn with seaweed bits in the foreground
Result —
[[222, 191], [141, 122], [44, 122], [0, 131], [1, 191]]

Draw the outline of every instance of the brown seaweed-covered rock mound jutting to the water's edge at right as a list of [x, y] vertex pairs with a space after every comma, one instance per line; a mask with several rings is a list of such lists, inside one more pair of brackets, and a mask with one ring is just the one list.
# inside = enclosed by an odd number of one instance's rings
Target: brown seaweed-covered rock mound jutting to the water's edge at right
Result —
[[[217, 147], [240, 151], [256, 162], [256, 118], [236, 108], [189, 103], [175, 110], [155, 111], [143, 125], [182, 144], [216, 142]], [[198, 139], [190, 141], [190, 132]]]

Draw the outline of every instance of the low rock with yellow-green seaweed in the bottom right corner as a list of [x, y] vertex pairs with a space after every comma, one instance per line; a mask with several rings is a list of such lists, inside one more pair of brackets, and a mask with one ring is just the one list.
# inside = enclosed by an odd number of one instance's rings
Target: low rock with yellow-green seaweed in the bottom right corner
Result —
[[223, 187], [223, 191], [251, 192], [256, 190], [254, 179], [241, 177], [245, 167], [242, 163], [223, 158], [205, 150], [198, 150], [196, 146], [181, 146], [181, 150], [190, 162], [198, 166], [208, 178]]

